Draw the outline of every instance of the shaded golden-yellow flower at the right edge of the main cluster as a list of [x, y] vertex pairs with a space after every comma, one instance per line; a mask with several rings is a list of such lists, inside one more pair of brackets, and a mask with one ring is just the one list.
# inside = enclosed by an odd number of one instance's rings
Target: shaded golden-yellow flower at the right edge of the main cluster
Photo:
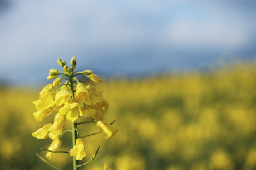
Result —
[[108, 101], [101, 97], [98, 93], [90, 91], [91, 106], [102, 116], [107, 113], [109, 108]]

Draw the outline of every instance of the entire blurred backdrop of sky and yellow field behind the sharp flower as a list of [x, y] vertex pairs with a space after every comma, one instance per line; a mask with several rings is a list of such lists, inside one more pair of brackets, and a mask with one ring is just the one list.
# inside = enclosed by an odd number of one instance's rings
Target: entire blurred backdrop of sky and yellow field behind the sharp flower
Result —
[[[62, 70], [57, 59], [72, 56], [102, 78], [104, 121], [119, 128], [84, 138], [81, 163], [101, 148], [80, 169], [255, 169], [255, 9], [249, 0], [0, 0], [0, 169], [51, 169], [35, 153], [52, 140], [31, 134], [55, 113], [37, 122], [32, 101], [52, 83], [49, 69]], [[60, 150], [71, 147], [66, 133]], [[66, 153], [49, 162], [72, 169]]]

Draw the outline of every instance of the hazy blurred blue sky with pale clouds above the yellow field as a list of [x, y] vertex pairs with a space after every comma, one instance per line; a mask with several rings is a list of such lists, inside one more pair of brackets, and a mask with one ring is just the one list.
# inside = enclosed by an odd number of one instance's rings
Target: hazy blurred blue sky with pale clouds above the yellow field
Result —
[[140, 76], [256, 54], [255, 1], [10, 2], [0, 3], [4, 83], [42, 83], [49, 69], [62, 69], [58, 58], [72, 56], [77, 70]]

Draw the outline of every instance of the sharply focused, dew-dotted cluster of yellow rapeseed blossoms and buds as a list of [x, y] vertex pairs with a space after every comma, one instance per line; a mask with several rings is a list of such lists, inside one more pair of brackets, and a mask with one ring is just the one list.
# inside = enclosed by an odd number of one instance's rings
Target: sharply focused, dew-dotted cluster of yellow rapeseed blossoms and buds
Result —
[[[45, 149], [49, 151], [46, 157], [49, 157], [50, 160], [56, 152], [65, 152], [58, 151], [58, 149], [62, 144], [62, 135], [70, 131], [73, 133], [74, 137], [73, 148], [67, 153], [75, 157], [76, 160], [82, 160], [82, 158], [86, 156], [86, 153], [82, 140], [83, 137], [79, 136], [77, 129], [78, 124], [76, 120], [78, 118], [87, 117], [90, 122], [96, 122], [96, 126], [102, 131], [102, 135], [105, 139], [115, 136], [116, 132], [118, 132], [118, 128], [102, 121], [103, 116], [106, 115], [109, 108], [108, 102], [103, 97], [103, 93], [106, 92], [106, 90], [93, 84], [86, 84], [78, 80], [76, 76], [83, 75], [96, 83], [100, 83], [101, 79], [91, 70], [84, 70], [82, 72], [75, 71], [75, 57], [71, 59], [71, 68], [68, 68], [66, 62], [61, 59], [58, 59], [58, 64], [63, 67], [63, 71], [51, 69], [47, 79], [55, 80], [52, 84], [48, 84], [42, 89], [39, 93], [40, 97], [38, 100], [33, 101], [37, 110], [33, 115], [37, 121], [47, 118], [53, 112], [57, 113], [55, 114], [53, 122], [44, 125], [42, 128], [32, 133], [32, 135], [37, 139], [46, 139], [49, 137], [53, 140], [49, 148]], [[67, 81], [62, 83], [62, 80]], [[56, 87], [56, 89], [54, 87]], [[66, 120], [72, 123], [72, 130], [63, 131]], [[87, 122], [88, 121], [86, 121], [86, 123]]]

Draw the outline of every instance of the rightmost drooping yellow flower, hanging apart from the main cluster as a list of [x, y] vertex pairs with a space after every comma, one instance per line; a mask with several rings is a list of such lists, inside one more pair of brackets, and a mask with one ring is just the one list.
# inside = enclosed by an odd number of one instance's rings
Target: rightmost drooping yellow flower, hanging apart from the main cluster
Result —
[[105, 139], [108, 139], [109, 137], [115, 136], [116, 132], [118, 132], [118, 128], [115, 126], [111, 126], [103, 121], [97, 122], [97, 127], [102, 131], [102, 135]]

